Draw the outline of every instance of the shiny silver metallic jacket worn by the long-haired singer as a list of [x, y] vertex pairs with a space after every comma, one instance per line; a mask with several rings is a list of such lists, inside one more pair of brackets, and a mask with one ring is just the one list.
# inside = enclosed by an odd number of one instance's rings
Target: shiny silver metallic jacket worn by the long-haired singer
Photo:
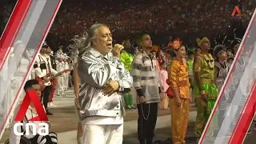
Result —
[[[121, 93], [130, 91], [133, 83], [121, 60], [112, 53], [103, 56], [94, 48], [90, 48], [78, 59], [78, 74], [81, 79], [81, 120], [90, 116], [118, 116], [123, 110]], [[102, 89], [110, 81], [118, 81], [119, 90], [110, 97], [104, 96]]]

